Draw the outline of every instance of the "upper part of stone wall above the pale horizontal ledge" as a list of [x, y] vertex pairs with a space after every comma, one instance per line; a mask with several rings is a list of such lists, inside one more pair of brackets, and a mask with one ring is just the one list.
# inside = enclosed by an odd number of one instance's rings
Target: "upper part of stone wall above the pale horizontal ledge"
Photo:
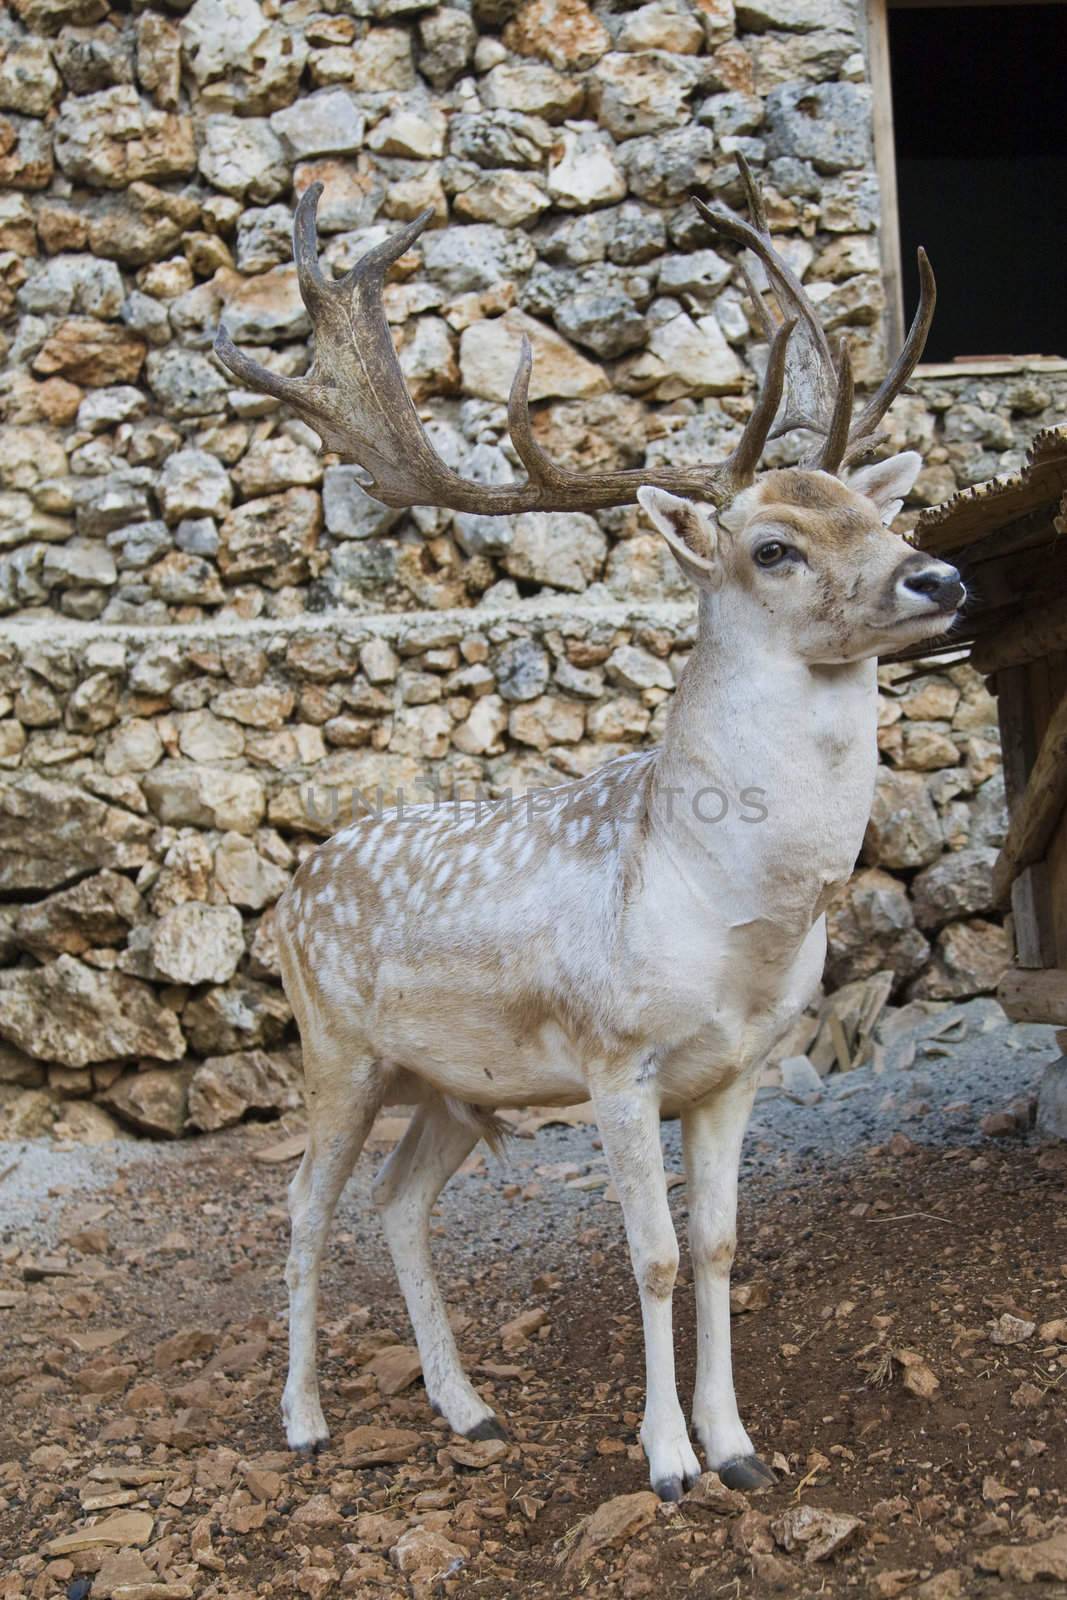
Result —
[[[849, 0], [13, 0], [0, 614], [144, 626], [678, 597], [633, 510], [490, 522], [368, 501], [306, 427], [234, 389], [214, 330], [304, 368], [290, 227], [314, 179], [334, 272], [430, 206], [386, 299], [453, 464], [514, 474], [523, 331], [537, 437], [560, 461], [713, 459], [761, 352], [688, 195], [736, 200], [734, 150], [861, 379], [883, 362], [862, 46]], [[1017, 464], [1065, 406], [1064, 373], [923, 381], [894, 424], [926, 451], [915, 504]]]

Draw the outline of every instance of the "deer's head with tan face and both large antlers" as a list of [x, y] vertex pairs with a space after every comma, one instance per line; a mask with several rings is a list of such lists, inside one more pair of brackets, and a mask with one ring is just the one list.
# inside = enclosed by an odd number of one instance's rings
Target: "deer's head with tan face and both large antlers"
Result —
[[[640, 499], [699, 587], [715, 589], [729, 578], [779, 624], [782, 613], [795, 618], [798, 648], [809, 659], [854, 659], [889, 642], [897, 648], [942, 632], [961, 595], [958, 576], [953, 568], [915, 555], [885, 528], [915, 482], [918, 456], [909, 451], [854, 472], [848, 482], [840, 477], [870, 453], [881, 419], [921, 357], [934, 310], [926, 254], [918, 253], [921, 294], [907, 342], [853, 419], [848, 347], [841, 341], [837, 355], [830, 350], [814, 306], [774, 248], [744, 157], [737, 165], [750, 221], [725, 205], [696, 205], [718, 235], [761, 262], [777, 315], [745, 274], [769, 349], [752, 414], [720, 462], [592, 474], [557, 466], [533, 437], [533, 357], [523, 342], [509, 429], [526, 482], [486, 485], [453, 472], [419, 421], [382, 309], [389, 267], [411, 248], [432, 211], [370, 250], [334, 282], [318, 264], [315, 213], [322, 184], [304, 192], [293, 227], [299, 288], [315, 330], [307, 376], [267, 371], [234, 346], [226, 328], [219, 328], [216, 354], [242, 382], [286, 402], [328, 450], [363, 467], [370, 474], [368, 493], [387, 506], [506, 515], [597, 510]], [[808, 429], [816, 443], [800, 467], [768, 472], [757, 483], [776, 419], [776, 432]], [[805, 611], [806, 629], [800, 627]]]

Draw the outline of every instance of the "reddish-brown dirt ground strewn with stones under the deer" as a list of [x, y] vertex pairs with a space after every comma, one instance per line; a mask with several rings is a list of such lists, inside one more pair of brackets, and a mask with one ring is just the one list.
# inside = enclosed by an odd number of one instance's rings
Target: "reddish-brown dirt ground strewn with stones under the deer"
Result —
[[[961, 1123], [934, 1147], [897, 1133], [750, 1173], [737, 1394], [779, 1483], [745, 1499], [707, 1477], [659, 1507], [635, 1443], [637, 1294], [590, 1128], [512, 1141], [504, 1165], [475, 1155], [440, 1206], [461, 1347], [510, 1442], [472, 1446], [430, 1416], [365, 1154], [323, 1283], [333, 1442], [290, 1456], [293, 1162], [258, 1158], [283, 1133], [152, 1160], [131, 1144], [102, 1187], [42, 1197], [51, 1238], [3, 1214], [3, 1600], [90, 1584], [93, 1600], [1001, 1600], [1032, 1578], [1067, 1594], [1067, 1150]], [[683, 1248], [683, 1390], [688, 1278]]]

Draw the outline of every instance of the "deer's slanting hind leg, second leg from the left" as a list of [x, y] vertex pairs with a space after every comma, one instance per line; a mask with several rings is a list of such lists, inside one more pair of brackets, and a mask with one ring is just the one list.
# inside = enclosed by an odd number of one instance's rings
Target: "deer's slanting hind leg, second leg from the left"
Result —
[[456, 1168], [478, 1142], [435, 1096], [421, 1104], [374, 1184], [374, 1205], [408, 1306], [430, 1405], [456, 1434], [504, 1438], [504, 1429], [462, 1370], [430, 1259], [430, 1211]]

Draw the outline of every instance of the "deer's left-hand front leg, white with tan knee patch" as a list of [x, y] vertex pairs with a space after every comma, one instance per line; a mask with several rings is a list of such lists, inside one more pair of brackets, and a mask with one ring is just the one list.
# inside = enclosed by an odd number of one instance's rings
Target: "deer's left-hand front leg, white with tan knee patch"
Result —
[[[633, 1078], [637, 1080], [637, 1067]], [[697, 1480], [696, 1459], [675, 1387], [670, 1298], [678, 1272], [678, 1240], [667, 1205], [659, 1096], [654, 1085], [595, 1091], [593, 1110], [614, 1181], [645, 1325], [645, 1421], [641, 1445], [661, 1499], [681, 1499]]]

